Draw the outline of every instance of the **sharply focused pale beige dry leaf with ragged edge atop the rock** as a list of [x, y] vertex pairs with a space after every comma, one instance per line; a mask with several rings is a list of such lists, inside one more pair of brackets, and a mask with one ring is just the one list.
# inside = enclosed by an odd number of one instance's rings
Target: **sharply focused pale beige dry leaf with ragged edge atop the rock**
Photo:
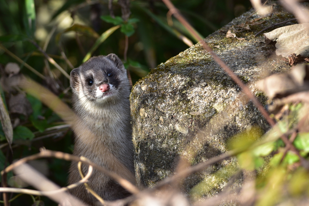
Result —
[[264, 33], [265, 43], [268, 45], [276, 41], [276, 54], [288, 58], [290, 54], [309, 56], [309, 24], [294, 24], [277, 28]]

